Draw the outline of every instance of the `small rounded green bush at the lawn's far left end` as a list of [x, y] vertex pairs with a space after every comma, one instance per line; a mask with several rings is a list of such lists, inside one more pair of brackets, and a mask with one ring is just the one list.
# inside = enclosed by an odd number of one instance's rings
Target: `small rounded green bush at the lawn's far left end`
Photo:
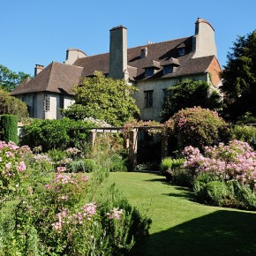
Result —
[[72, 161], [67, 165], [67, 170], [70, 172], [92, 172], [97, 168], [97, 164], [93, 159], [80, 159]]

